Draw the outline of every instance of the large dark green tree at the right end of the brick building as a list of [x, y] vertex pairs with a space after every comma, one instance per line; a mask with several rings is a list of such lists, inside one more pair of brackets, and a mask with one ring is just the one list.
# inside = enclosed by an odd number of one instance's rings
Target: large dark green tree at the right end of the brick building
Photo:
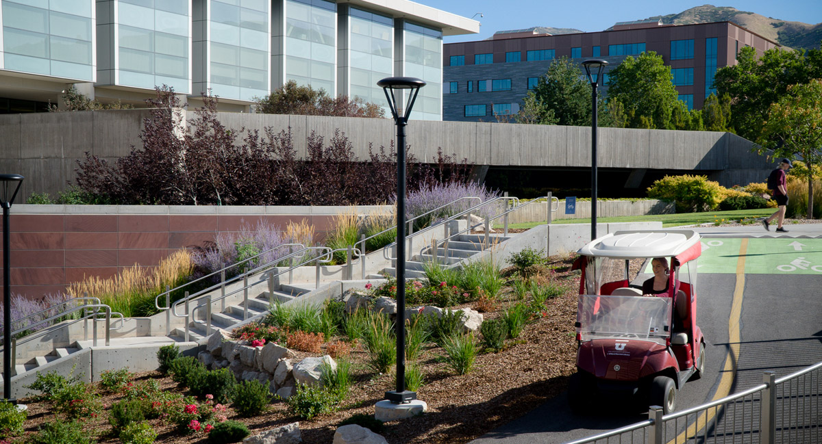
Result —
[[[815, 74], [816, 73], [816, 74]], [[822, 75], [819, 49], [808, 53], [774, 48], [756, 57], [754, 48], [742, 48], [737, 64], [720, 68], [713, 76], [719, 97], [733, 101], [731, 126], [748, 140], [760, 140], [771, 103], [787, 94], [790, 85], [808, 83]]]

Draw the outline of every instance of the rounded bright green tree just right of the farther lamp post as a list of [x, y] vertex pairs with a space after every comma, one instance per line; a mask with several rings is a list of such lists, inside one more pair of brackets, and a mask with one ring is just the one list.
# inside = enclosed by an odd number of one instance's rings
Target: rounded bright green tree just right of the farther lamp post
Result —
[[627, 128], [660, 130], [676, 129], [672, 112], [684, 105], [673, 85], [671, 68], [653, 51], [626, 57], [610, 72], [608, 108], [615, 102], [621, 103]]

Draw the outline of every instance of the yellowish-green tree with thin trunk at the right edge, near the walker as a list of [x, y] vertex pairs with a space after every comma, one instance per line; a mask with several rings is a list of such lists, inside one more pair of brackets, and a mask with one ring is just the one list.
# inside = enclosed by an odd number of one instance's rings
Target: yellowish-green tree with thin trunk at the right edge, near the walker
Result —
[[813, 218], [813, 171], [822, 162], [822, 79], [792, 85], [771, 104], [760, 133], [760, 153], [774, 149], [776, 158], [801, 156], [807, 168], [808, 217]]

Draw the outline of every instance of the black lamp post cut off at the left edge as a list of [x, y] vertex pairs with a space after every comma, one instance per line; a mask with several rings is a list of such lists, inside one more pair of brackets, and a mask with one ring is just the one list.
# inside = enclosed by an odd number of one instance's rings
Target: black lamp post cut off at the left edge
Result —
[[[2, 184], [2, 195], [0, 195], [0, 206], [2, 206], [2, 381], [3, 396], [7, 401], [12, 400], [12, 286], [9, 267], [9, 229], [8, 219], [12, 209], [12, 203], [20, 190], [23, 176], [19, 174], [0, 174], [0, 184]], [[10, 189], [12, 191], [9, 197]]]

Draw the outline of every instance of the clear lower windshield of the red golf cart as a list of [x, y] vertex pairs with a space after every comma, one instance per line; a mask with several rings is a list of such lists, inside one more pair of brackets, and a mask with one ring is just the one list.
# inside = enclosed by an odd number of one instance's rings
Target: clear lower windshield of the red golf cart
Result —
[[632, 337], [665, 344], [670, 336], [671, 300], [649, 296], [580, 295], [577, 332], [583, 341]]

